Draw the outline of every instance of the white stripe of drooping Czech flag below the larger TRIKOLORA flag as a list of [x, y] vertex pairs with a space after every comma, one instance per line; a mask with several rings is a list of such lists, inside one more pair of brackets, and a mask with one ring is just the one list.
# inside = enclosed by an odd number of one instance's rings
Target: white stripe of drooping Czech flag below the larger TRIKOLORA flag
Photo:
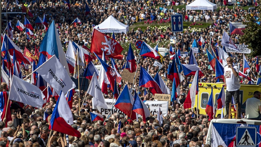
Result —
[[68, 102], [66, 101], [66, 98], [64, 97], [64, 92], [60, 92], [59, 101], [56, 103], [59, 116], [62, 117], [69, 125], [73, 124], [73, 117], [71, 109], [68, 105]]

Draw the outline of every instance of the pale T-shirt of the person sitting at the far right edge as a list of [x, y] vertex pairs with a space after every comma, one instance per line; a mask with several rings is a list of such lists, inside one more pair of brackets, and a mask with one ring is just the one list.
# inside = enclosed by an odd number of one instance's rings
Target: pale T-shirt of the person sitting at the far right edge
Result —
[[255, 97], [249, 98], [246, 101], [246, 117], [256, 118], [259, 116], [258, 106], [261, 105], [261, 101]]

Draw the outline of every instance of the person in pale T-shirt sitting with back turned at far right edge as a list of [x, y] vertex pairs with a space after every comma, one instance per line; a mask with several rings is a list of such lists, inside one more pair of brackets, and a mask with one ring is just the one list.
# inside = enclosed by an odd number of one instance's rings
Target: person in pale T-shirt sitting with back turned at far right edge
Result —
[[253, 97], [246, 101], [246, 116], [247, 119], [261, 120], [261, 93], [255, 91]]

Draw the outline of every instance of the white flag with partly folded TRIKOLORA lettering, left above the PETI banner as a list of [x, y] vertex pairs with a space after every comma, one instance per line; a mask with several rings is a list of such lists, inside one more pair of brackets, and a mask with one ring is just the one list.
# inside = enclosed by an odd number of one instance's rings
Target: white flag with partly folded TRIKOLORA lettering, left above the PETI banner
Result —
[[87, 93], [89, 93], [91, 96], [93, 96], [92, 105], [94, 106], [94, 109], [97, 109], [96, 106], [100, 106], [102, 108], [107, 109], [107, 105], [105, 104], [105, 99], [104, 99], [103, 93], [101, 91], [101, 86], [99, 85], [99, 82], [98, 82], [97, 76], [95, 76], [95, 73], [92, 76], [92, 80], [91, 80], [91, 83], [87, 90]]

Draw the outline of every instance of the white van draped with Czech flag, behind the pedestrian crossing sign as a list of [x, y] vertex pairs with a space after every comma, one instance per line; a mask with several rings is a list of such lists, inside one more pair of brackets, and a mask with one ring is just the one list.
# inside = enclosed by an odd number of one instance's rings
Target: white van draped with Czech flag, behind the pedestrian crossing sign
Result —
[[259, 147], [261, 121], [248, 119], [213, 119], [208, 127], [206, 144], [216, 147]]

